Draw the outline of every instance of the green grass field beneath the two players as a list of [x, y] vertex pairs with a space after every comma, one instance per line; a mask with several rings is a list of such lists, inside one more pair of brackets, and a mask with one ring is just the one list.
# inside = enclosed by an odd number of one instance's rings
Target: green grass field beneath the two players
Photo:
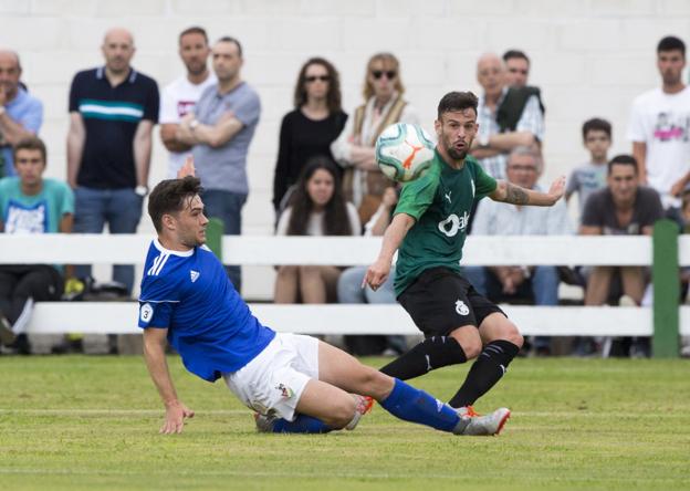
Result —
[[[513, 409], [489, 438], [380, 407], [352, 432], [260, 435], [222, 383], [170, 365], [197, 416], [159, 436], [139, 357], [0, 357], [0, 489], [690, 489], [688, 361], [518, 359], [477, 405]], [[447, 399], [467, 368], [416, 385]]]

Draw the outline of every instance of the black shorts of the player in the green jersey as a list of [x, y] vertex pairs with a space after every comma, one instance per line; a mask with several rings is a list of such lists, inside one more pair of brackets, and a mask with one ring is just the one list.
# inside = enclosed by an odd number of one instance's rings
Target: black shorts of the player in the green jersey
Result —
[[[447, 336], [464, 325], [479, 327], [494, 312], [505, 313], [448, 268], [431, 268], [398, 296], [425, 337]], [[508, 315], [506, 315], [508, 317]]]

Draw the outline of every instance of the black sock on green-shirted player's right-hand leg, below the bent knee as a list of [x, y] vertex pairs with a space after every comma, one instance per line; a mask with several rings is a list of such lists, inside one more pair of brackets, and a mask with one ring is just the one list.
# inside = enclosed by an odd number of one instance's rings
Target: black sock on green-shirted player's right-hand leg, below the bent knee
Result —
[[505, 339], [492, 341], [470, 368], [464, 384], [448, 403], [452, 407], [471, 406], [505, 374], [520, 348]]

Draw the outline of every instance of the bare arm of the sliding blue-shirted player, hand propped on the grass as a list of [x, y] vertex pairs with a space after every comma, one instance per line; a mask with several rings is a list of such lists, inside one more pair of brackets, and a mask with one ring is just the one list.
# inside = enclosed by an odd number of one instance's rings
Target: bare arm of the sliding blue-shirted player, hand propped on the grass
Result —
[[144, 357], [148, 373], [166, 408], [166, 420], [160, 427], [160, 432], [181, 433], [185, 418], [192, 418], [194, 411], [177, 398], [165, 356], [167, 333], [167, 328], [147, 327], [144, 330]]

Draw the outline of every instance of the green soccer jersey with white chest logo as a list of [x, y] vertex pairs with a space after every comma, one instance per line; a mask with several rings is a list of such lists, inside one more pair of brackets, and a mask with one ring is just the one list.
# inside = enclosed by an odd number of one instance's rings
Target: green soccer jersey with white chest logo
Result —
[[458, 170], [446, 164], [438, 152], [429, 170], [405, 185], [395, 215], [409, 215], [416, 223], [398, 249], [396, 295], [430, 268], [460, 272], [472, 203], [495, 188], [495, 179], [474, 158], [467, 156]]

